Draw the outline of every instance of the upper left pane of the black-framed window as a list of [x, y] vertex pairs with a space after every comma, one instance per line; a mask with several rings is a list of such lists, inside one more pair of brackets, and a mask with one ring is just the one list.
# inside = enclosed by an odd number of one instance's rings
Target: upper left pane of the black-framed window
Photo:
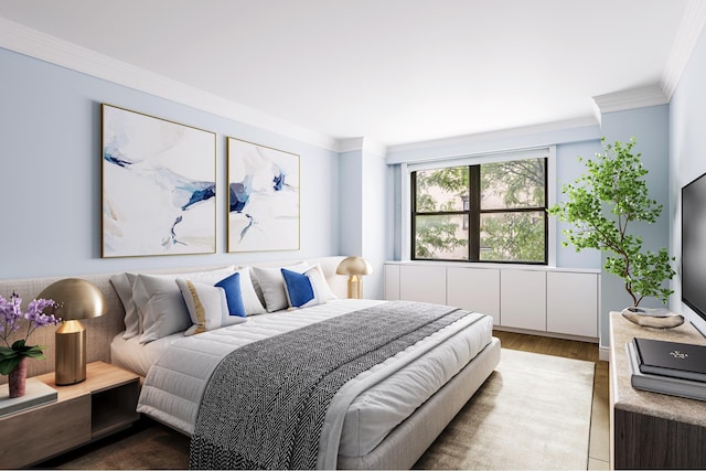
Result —
[[417, 172], [417, 213], [468, 210], [468, 167]]

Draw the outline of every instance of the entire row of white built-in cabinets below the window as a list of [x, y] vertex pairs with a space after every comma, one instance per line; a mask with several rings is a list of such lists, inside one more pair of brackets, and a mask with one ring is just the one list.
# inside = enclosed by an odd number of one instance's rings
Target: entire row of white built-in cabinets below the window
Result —
[[598, 270], [387, 263], [385, 299], [492, 315], [500, 328], [598, 338]]

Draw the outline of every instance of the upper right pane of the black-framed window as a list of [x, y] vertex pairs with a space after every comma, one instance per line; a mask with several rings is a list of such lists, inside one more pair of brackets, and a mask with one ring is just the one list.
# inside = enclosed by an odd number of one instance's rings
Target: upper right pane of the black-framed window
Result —
[[481, 165], [481, 210], [544, 206], [546, 159]]

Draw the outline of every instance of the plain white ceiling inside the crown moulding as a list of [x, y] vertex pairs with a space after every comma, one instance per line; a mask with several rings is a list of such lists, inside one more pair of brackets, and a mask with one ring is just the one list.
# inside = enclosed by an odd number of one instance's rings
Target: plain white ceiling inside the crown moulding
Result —
[[[593, 116], [702, 0], [0, 0], [0, 17], [334, 139]], [[672, 62], [670, 62], [672, 60]]]

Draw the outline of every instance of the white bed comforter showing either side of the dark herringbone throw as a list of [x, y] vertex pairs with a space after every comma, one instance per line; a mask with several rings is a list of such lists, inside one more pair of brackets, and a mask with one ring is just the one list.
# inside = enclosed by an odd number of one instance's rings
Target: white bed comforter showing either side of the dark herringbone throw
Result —
[[[199, 404], [218, 362], [238, 346], [385, 301], [334, 300], [183, 338], [149, 370], [138, 411], [192, 435]], [[468, 315], [349, 382], [324, 421], [319, 465], [365, 456], [491, 341], [492, 318]], [[424, 356], [422, 356], [424, 355]]]

